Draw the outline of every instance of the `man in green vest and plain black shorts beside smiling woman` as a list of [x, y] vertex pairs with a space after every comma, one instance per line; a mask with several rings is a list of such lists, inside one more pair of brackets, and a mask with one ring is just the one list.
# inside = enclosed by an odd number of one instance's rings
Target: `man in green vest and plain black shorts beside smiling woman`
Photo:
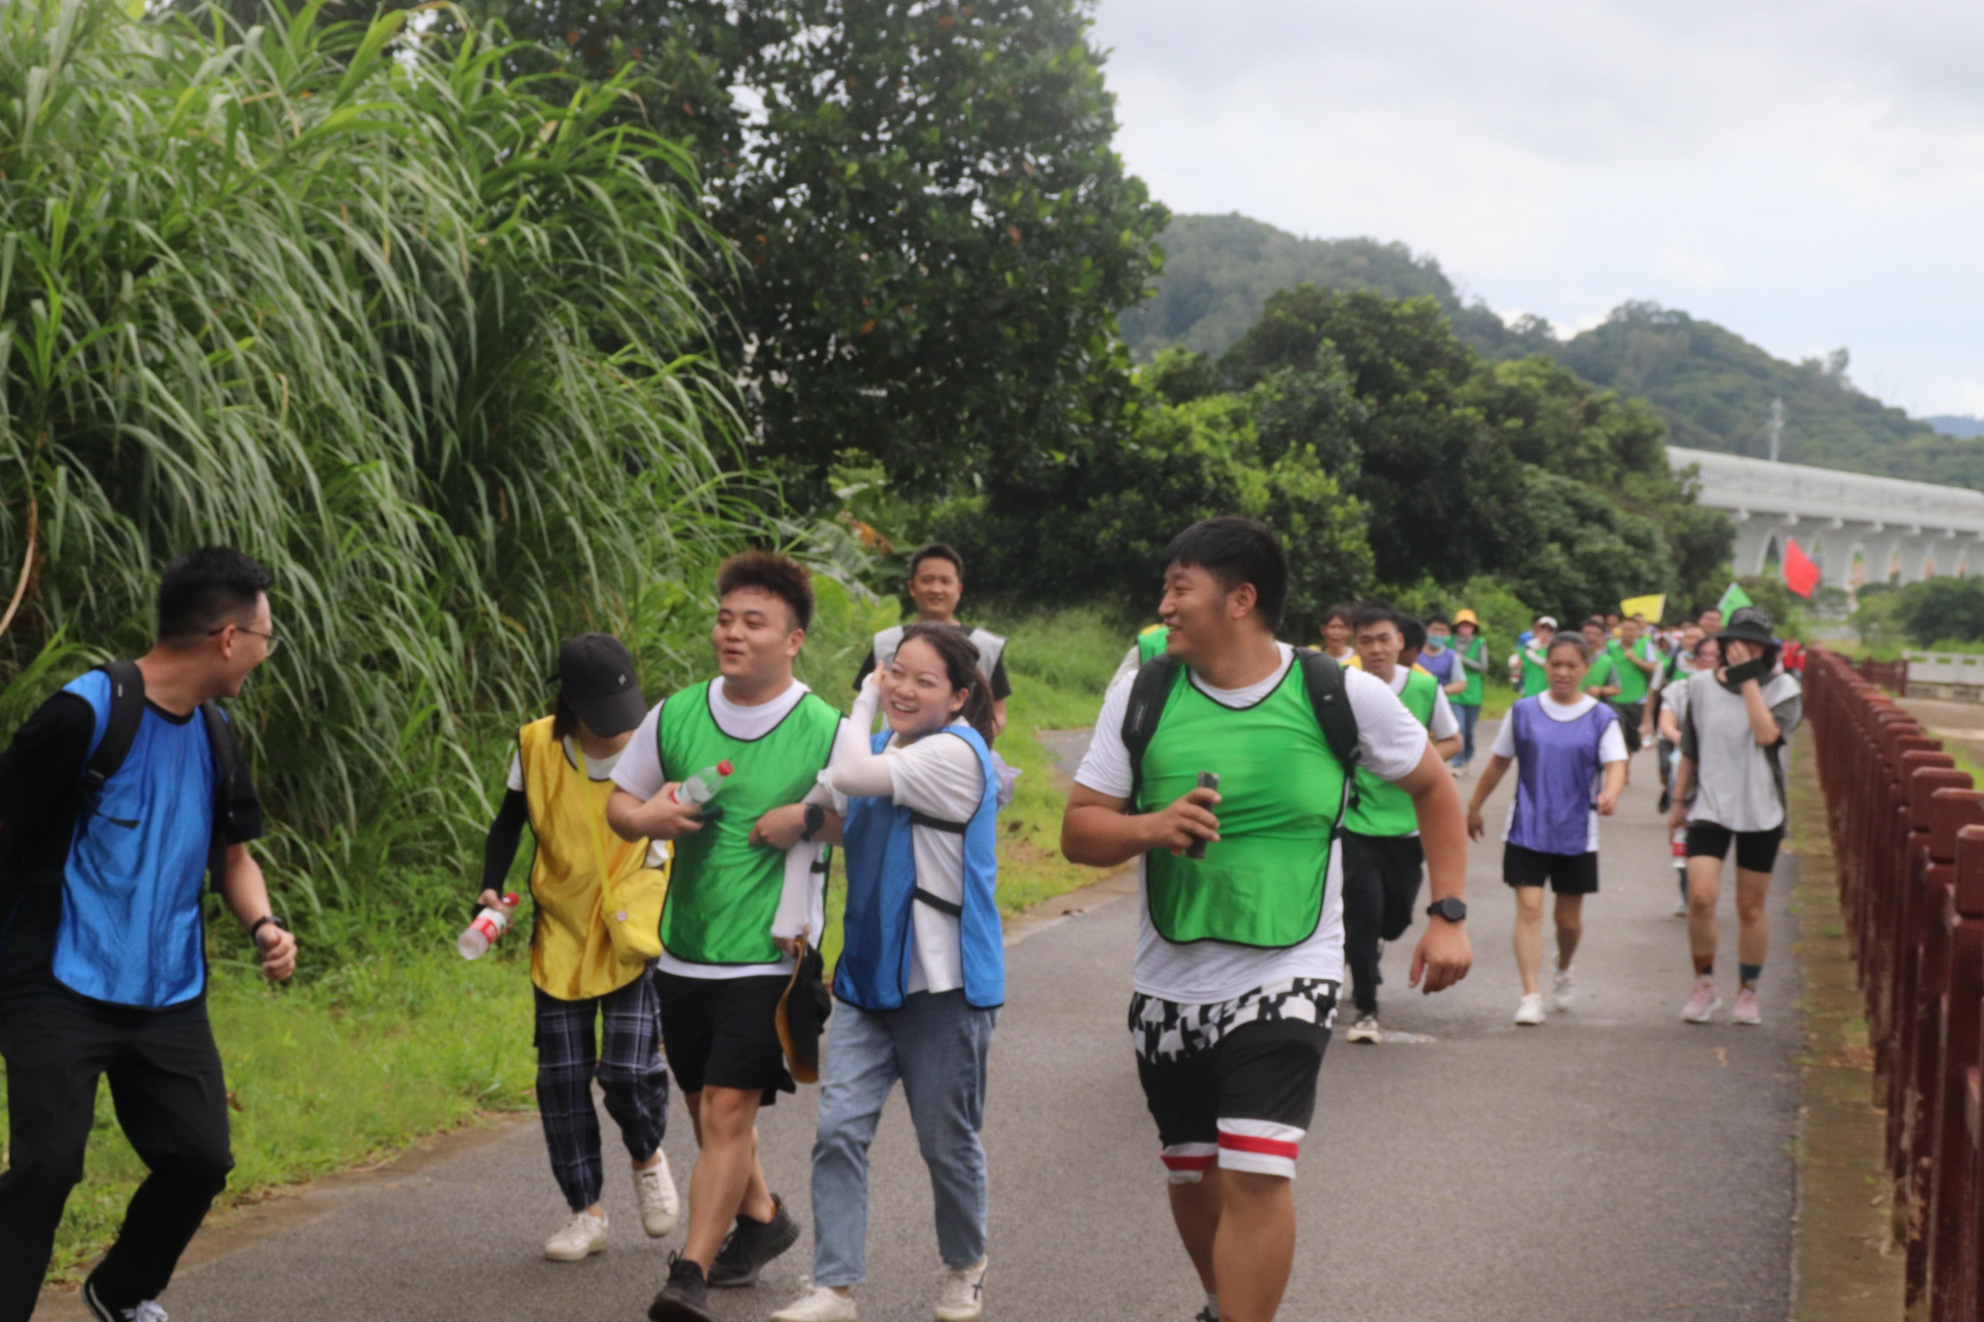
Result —
[[[716, 595], [718, 678], [647, 714], [607, 801], [623, 838], [675, 842], [655, 985], [700, 1156], [655, 1322], [708, 1322], [708, 1286], [752, 1284], [800, 1239], [758, 1165], [758, 1108], [794, 1090], [778, 1001], [800, 941], [825, 930], [823, 846], [839, 840], [845, 807], [817, 787], [841, 714], [792, 674], [813, 618], [809, 573], [748, 551], [722, 563]], [[700, 805], [677, 797], [698, 771], [720, 785]]]

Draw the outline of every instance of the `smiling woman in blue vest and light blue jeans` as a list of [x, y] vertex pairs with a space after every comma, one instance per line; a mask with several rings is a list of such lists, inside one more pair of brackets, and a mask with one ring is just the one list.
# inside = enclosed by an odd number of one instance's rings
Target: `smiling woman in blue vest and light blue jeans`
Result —
[[895, 1082], [936, 1195], [938, 1322], [984, 1314], [986, 1052], [1006, 999], [994, 902], [1000, 777], [992, 692], [970, 638], [911, 624], [849, 719], [867, 755], [821, 777], [849, 795], [845, 945], [813, 1144], [813, 1286], [772, 1322], [853, 1322], [867, 1272], [867, 1152]]

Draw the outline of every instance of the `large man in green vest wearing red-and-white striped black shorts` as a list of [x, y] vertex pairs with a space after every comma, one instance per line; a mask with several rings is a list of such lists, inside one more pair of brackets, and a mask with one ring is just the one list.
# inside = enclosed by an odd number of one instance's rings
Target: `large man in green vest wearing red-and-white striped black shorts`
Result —
[[[1141, 676], [1109, 688], [1061, 819], [1069, 860], [1141, 858], [1131, 1041], [1171, 1211], [1206, 1290], [1202, 1318], [1268, 1322], [1296, 1253], [1290, 1179], [1343, 981], [1335, 828], [1347, 803], [1331, 737], [1397, 783], [1425, 840], [1434, 914], [1413, 985], [1466, 975], [1466, 823], [1426, 729], [1369, 674], [1311, 672], [1274, 630], [1288, 561], [1252, 519], [1218, 517], [1165, 551], [1171, 628], [1157, 712]], [[1311, 680], [1319, 686], [1311, 700]], [[1149, 692], [1149, 690], [1147, 690]], [[1327, 708], [1331, 733], [1317, 717]], [[1141, 755], [1123, 737], [1143, 731]], [[1218, 787], [1200, 777], [1218, 775]], [[1200, 856], [1194, 856], [1200, 854]]]

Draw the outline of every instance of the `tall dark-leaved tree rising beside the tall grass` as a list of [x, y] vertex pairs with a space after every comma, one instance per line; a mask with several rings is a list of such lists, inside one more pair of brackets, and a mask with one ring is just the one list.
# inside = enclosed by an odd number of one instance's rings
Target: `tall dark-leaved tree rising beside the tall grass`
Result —
[[1165, 210], [1111, 149], [1077, 0], [476, 8], [589, 67], [635, 61], [659, 127], [694, 143], [742, 254], [726, 355], [809, 499], [847, 452], [934, 492], [1121, 416], [1115, 311]]

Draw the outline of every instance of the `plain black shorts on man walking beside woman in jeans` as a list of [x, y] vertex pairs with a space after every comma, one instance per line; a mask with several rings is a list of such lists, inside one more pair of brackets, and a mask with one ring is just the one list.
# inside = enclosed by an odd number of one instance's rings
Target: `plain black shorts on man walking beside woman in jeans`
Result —
[[778, 1045], [778, 999], [790, 979], [682, 977], [655, 973], [661, 991], [661, 1045], [682, 1092], [756, 1088], [770, 1106], [794, 1092], [786, 1048]]

